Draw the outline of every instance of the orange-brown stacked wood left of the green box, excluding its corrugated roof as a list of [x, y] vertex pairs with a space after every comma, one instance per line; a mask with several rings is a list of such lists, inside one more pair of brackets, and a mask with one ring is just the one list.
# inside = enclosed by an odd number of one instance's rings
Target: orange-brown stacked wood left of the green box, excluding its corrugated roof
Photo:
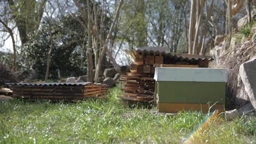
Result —
[[134, 55], [134, 63], [130, 64], [130, 73], [121, 76], [124, 91], [123, 100], [153, 101], [155, 92], [155, 65], [164, 62], [163, 56]]

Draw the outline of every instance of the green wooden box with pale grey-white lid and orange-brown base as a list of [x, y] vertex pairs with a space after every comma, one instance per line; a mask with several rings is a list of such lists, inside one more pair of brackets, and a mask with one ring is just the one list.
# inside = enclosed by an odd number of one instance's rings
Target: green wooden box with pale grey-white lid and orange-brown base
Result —
[[156, 68], [155, 97], [159, 112], [208, 112], [224, 109], [227, 69]]

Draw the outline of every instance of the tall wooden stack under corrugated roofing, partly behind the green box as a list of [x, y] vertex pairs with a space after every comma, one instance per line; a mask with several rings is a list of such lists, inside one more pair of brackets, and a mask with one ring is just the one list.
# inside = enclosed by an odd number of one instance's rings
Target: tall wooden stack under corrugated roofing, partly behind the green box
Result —
[[163, 50], [131, 50], [125, 51], [133, 62], [130, 72], [122, 75], [123, 82], [122, 100], [147, 101], [155, 100], [154, 73], [156, 67], [208, 67], [212, 58], [188, 55], [183, 53], [166, 53]]

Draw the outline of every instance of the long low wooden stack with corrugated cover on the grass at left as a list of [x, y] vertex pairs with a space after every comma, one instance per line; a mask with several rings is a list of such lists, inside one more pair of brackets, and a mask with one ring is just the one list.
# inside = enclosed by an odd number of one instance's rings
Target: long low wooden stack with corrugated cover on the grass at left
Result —
[[103, 98], [108, 88], [104, 84], [82, 83], [8, 83], [13, 97], [26, 100], [83, 100]]

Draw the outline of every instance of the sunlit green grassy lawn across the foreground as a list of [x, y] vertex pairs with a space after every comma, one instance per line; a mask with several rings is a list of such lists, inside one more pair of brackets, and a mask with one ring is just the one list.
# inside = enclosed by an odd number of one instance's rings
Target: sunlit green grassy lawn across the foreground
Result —
[[[105, 100], [77, 103], [0, 103], [0, 143], [181, 143], [201, 123], [201, 112], [170, 117], [153, 109], [129, 109], [111, 90]], [[255, 143], [255, 118], [218, 118], [196, 143]]]

